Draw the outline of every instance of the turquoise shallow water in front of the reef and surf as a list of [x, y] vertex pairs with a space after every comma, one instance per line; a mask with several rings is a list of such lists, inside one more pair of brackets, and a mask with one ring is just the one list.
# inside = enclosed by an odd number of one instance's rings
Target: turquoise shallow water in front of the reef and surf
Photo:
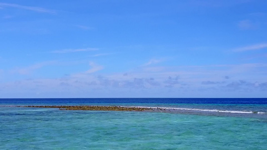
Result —
[[251, 117], [0, 107], [0, 149], [267, 149]]

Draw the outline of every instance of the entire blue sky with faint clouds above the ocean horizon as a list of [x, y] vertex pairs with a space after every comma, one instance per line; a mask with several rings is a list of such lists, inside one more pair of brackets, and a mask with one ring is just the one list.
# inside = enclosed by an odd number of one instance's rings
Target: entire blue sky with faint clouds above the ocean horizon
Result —
[[266, 0], [1, 0], [0, 98], [267, 97]]

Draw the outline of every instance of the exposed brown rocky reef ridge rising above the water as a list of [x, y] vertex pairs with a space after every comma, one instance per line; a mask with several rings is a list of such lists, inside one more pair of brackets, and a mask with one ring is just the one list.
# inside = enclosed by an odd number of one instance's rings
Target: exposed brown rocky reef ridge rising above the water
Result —
[[153, 110], [147, 107], [125, 107], [125, 106], [92, 106], [92, 105], [27, 105], [20, 107], [40, 107], [40, 108], [59, 108], [60, 110], [103, 110], [103, 111], [144, 111]]

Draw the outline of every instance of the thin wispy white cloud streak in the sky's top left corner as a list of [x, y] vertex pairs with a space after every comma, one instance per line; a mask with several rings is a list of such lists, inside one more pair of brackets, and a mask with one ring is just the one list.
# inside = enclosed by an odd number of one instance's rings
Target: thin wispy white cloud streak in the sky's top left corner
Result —
[[20, 9], [26, 9], [26, 10], [42, 12], [42, 13], [50, 13], [50, 14], [55, 14], [56, 13], [55, 10], [46, 9], [46, 8], [42, 8], [42, 7], [33, 7], [33, 6], [20, 5], [20, 4], [16, 4], [16, 3], [3, 3], [3, 2], [0, 2], [0, 7], [15, 7], [15, 8], [20, 8]]

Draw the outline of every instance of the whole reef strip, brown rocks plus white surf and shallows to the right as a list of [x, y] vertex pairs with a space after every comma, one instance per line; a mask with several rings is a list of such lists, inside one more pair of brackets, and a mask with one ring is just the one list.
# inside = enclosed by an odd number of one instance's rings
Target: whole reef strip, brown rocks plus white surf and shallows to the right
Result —
[[216, 109], [195, 109], [195, 108], [162, 108], [162, 107], [141, 107], [141, 106], [98, 106], [98, 105], [7, 105], [15, 107], [39, 107], [39, 108], [59, 108], [60, 110], [97, 110], [97, 111], [146, 111], [179, 113], [194, 115], [211, 116], [235, 116], [235, 117], [254, 117], [266, 120], [265, 112], [253, 111], [228, 111]]

